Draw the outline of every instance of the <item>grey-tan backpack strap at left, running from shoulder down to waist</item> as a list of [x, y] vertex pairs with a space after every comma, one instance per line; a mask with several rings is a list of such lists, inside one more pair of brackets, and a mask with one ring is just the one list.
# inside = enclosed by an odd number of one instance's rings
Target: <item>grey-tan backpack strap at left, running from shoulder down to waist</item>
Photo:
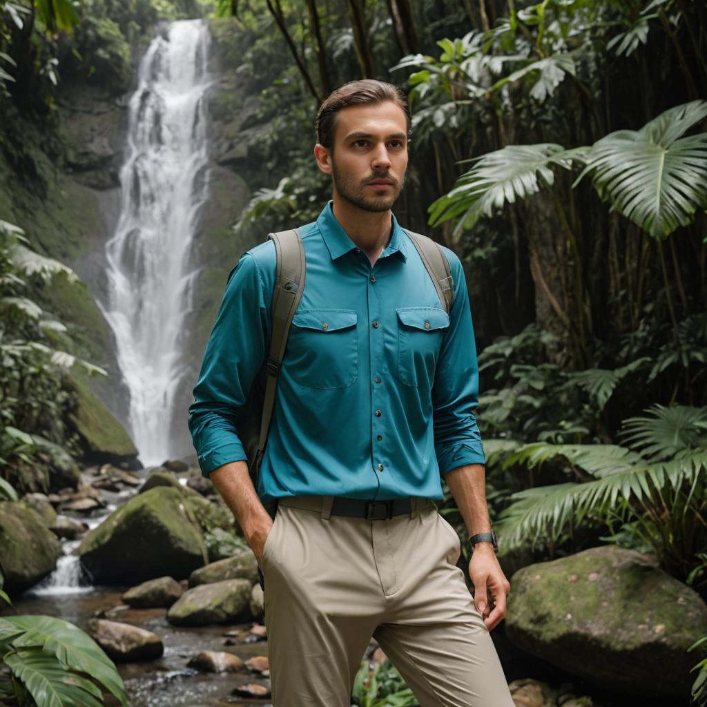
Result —
[[260, 437], [254, 464], [256, 476], [267, 444], [270, 420], [275, 404], [277, 375], [285, 356], [290, 325], [305, 288], [305, 250], [299, 231], [293, 228], [279, 233], [270, 233], [268, 239], [275, 243], [277, 264], [275, 286], [272, 293], [272, 334], [265, 367], [267, 377], [260, 422]]

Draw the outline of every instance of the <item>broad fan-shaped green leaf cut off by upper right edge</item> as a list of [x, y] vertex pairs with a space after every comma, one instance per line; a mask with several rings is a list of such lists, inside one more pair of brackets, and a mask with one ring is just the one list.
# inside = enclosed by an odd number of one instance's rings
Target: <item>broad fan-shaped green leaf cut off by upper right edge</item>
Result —
[[707, 133], [683, 137], [707, 117], [707, 101], [661, 113], [640, 130], [619, 130], [597, 141], [579, 175], [612, 209], [655, 238], [665, 238], [707, 209]]

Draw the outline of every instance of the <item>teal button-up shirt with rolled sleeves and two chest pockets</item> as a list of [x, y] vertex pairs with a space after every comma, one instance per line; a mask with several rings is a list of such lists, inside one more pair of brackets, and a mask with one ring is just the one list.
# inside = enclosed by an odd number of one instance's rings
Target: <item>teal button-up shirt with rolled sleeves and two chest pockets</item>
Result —
[[[331, 202], [300, 235], [305, 290], [279, 373], [260, 498], [443, 498], [440, 473], [484, 463], [460, 260], [445, 249], [455, 291], [448, 315], [395, 216], [373, 267]], [[189, 407], [204, 475], [246, 459], [238, 419], [269, 351], [275, 263], [269, 241], [228, 276]]]

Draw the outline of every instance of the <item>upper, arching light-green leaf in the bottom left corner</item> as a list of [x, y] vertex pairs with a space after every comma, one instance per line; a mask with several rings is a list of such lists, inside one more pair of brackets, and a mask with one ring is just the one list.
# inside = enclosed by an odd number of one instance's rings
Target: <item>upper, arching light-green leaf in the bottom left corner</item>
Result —
[[98, 680], [127, 707], [123, 681], [115, 665], [98, 643], [74, 624], [47, 616], [7, 617], [6, 621], [25, 631], [13, 640], [17, 648], [39, 646], [53, 653], [62, 665], [85, 672]]

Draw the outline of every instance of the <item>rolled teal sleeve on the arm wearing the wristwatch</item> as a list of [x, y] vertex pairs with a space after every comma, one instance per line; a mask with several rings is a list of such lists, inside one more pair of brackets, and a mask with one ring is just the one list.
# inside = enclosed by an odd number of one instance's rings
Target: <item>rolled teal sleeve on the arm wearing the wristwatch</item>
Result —
[[450, 325], [437, 363], [432, 390], [435, 452], [440, 474], [463, 464], [484, 464], [484, 448], [474, 416], [479, 404], [479, 365], [467, 284], [459, 259], [445, 249], [454, 279]]

